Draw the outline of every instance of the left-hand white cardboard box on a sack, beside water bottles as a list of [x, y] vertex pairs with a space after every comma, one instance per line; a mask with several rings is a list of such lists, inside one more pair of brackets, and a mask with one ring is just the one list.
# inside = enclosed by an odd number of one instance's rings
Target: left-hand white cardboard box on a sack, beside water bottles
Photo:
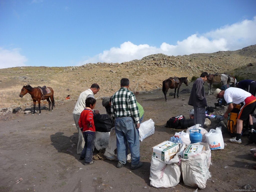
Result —
[[164, 141], [152, 148], [152, 156], [161, 161], [172, 159], [178, 152], [179, 145], [170, 141]]

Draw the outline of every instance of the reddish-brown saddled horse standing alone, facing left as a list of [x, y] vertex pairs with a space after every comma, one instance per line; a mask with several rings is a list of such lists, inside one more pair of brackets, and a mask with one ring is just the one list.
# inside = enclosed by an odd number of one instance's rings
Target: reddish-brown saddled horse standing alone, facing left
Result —
[[[51, 91], [51, 95], [50, 96], [43, 96], [40, 89], [38, 87], [31, 87], [30, 85], [26, 85], [23, 86], [23, 88], [21, 89], [21, 92], [19, 94], [19, 96], [22, 98], [25, 94], [29, 93], [33, 99], [33, 103], [34, 103], [34, 111], [33, 114], [35, 114], [36, 111], [36, 101], [38, 102], [38, 108], [39, 108], [39, 113], [41, 113], [40, 110], [40, 102], [41, 100], [47, 100], [49, 103], [49, 111], [50, 111], [50, 106], [51, 106], [51, 110], [53, 110], [53, 106], [55, 106], [54, 103], [54, 97], [53, 97], [53, 89], [51, 87], [47, 87], [50, 89]], [[51, 101], [50, 101], [50, 99]], [[51, 105], [52, 102], [52, 105]]]

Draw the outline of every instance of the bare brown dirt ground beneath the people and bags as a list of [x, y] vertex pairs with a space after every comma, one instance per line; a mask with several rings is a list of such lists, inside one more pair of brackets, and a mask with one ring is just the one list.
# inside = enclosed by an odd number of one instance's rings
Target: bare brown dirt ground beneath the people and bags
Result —
[[[182, 89], [185, 89], [184, 85]], [[208, 93], [206, 87], [205, 90]], [[184, 185], [183, 180], [173, 188], [154, 188], [149, 179], [151, 147], [181, 131], [165, 125], [175, 115], [183, 114], [189, 118], [189, 109], [193, 107], [187, 104], [188, 98], [189, 93], [180, 92], [179, 98], [168, 96], [165, 102], [161, 90], [136, 94], [145, 111], [144, 120], [155, 122], [155, 133], [140, 143], [144, 164], [136, 170], [130, 169], [130, 163], [116, 168], [116, 161], [97, 160], [93, 165], [84, 166], [78, 160], [78, 133], [72, 116], [75, 100], [64, 101], [53, 111], [42, 110], [40, 115], [12, 114], [12, 119], [0, 121], [0, 191], [195, 191], [196, 188]], [[209, 106], [214, 106], [214, 95], [207, 94], [206, 99]], [[102, 100], [97, 100], [95, 109], [105, 113]], [[216, 120], [212, 119], [207, 129], [216, 128], [216, 125]], [[230, 143], [229, 138], [228, 134], [223, 134], [225, 148], [211, 151], [209, 171], [212, 176], [206, 188], [199, 191], [236, 191], [246, 184], [256, 189], [256, 170], [253, 169], [256, 161], [249, 151], [256, 148], [255, 144], [248, 144], [247, 137], [242, 137], [242, 144]], [[97, 154], [96, 150], [94, 154]], [[23, 180], [16, 184], [19, 178]]]

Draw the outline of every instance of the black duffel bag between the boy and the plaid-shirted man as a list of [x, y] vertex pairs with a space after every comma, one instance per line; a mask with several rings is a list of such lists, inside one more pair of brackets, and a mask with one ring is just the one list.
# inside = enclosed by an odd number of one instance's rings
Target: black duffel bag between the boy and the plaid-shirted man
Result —
[[115, 126], [114, 121], [108, 114], [93, 115], [95, 131], [110, 132], [111, 128]]

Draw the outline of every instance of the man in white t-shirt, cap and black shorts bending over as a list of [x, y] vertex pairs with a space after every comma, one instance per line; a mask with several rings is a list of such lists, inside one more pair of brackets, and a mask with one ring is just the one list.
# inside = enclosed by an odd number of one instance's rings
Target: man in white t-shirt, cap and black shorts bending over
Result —
[[249, 118], [249, 127], [253, 126], [250, 114], [253, 113], [256, 108], [256, 98], [251, 93], [235, 87], [230, 87], [226, 90], [216, 89], [216, 94], [217, 98], [224, 97], [225, 101], [228, 104], [228, 109], [224, 114], [225, 118], [228, 118], [228, 114], [237, 104], [244, 102], [244, 105], [242, 105], [240, 112], [237, 116], [236, 137], [229, 140], [233, 143], [242, 143], [241, 132], [243, 129], [243, 121], [246, 121]]

